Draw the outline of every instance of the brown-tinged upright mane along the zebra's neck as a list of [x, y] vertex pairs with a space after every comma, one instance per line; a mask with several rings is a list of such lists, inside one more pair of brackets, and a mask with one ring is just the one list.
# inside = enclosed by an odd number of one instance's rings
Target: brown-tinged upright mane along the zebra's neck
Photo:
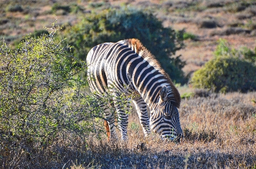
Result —
[[170, 98], [173, 102], [174, 106], [178, 107], [181, 104], [181, 96], [179, 95], [178, 90], [175, 88], [173, 81], [171, 81], [170, 76], [163, 70], [161, 67], [161, 64], [158, 62], [158, 60], [154, 57], [153, 54], [150, 53], [148, 49], [146, 49], [145, 46], [141, 44], [141, 42], [135, 38], [124, 40], [126, 44], [128, 44], [129, 47], [131, 47], [132, 50], [134, 50], [137, 54], [139, 54], [142, 58], [144, 58], [146, 61], [149, 62], [151, 66], [153, 66], [158, 72], [160, 72], [162, 75], [164, 75], [168, 81], [168, 83], [171, 85], [171, 89], [173, 91], [174, 98]]

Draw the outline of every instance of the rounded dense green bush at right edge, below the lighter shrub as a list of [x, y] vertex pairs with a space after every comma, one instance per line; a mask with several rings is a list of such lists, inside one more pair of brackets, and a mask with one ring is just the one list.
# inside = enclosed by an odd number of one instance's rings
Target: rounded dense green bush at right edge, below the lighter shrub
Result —
[[196, 71], [191, 83], [195, 88], [214, 92], [256, 90], [256, 66], [234, 57], [216, 57]]

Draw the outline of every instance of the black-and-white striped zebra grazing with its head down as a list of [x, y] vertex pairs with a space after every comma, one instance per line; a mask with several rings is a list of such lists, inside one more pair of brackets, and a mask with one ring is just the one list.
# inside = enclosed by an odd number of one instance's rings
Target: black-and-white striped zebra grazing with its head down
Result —
[[[104, 43], [93, 47], [86, 58], [87, 77], [91, 92], [103, 96], [107, 90], [114, 98], [120, 93], [134, 94], [132, 98], [144, 135], [150, 129], [162, 138], [178, 140], [183, 137], [178, 107], [181, 97], [169, 75], [137, 39]], [[128, 86], [128, 89], [124, 86]], [[121, 139], [127, 140], [128, 114], [114, 99]], [[146, 105], [150, 109], [150, 120]], [[110, 139], [116, 140], [114, 116], [104, 112], [110, 130]], [[109, 133], [108, 133], [109, 134]]]

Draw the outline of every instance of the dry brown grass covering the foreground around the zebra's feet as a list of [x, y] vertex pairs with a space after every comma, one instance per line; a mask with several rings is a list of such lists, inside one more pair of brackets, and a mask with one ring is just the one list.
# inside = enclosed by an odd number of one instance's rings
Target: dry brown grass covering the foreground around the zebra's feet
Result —
[[[51, 146], [9, 145], [3, 168], [255, 168], [256, 93], [210, 94], [183, 99], [184, 140], [144, 137], [134, 111], [129, 141], [111, 144], [95, 137], [61, 138]], [[73, 140], [73, 141], [69, 141]], [[16, 148], [15, 148], [16, 147]], [[3, 151], [1, 151], [3, 152]], [[7, 151], [6, 151], [7, 153]], [[9, 155], [6, 157], [5, 155]], [[5, 158], [3, 158], [5, 157]]]

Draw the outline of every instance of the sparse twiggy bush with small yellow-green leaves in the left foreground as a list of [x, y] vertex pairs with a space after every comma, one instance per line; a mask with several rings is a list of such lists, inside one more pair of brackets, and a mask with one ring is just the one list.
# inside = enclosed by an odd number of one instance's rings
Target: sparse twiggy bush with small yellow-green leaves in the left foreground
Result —
[[86, 64], [54, 34], [28, 36], [16, 50], [0, 46], [0, 161], [5, 164], [10, 157], [2, 154], [26, 151], [20, 146], [32, 151], [60, 138], [71, 144], [100, 133], [102, 121], [94, 118], [102, 118], [101, 100], [85, 92]]

